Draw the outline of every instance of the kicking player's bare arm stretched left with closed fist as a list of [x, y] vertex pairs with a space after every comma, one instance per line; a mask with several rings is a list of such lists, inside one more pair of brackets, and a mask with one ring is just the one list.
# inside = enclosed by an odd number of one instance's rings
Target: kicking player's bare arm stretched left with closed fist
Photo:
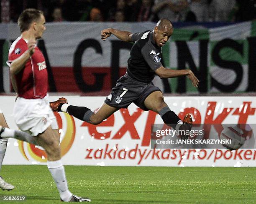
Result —
[[111, 34], [115, 35], [120, 40], [123, 40], [125, 42], [132, 42], [132, 33], [128, 31], [123, 30], [116, 30], [113, 28], [107, 28], [101, 31], [101, 39], [106, 40]]

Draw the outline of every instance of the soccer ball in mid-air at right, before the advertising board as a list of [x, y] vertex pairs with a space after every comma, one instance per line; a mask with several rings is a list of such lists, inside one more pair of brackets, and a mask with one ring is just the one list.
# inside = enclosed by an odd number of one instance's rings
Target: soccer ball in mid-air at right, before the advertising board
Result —
[[[248, 135], [249, 131], [238, 127], [239, 125], [233, 127], [225, 127], [220, 133], [220, 139], [230, 139], [231, 144], [222, 144], [226, 149], [236, 150], [243, 146], [247, 139], [250, 139]], [[250, 127], [251, 128], [251, 127]]]

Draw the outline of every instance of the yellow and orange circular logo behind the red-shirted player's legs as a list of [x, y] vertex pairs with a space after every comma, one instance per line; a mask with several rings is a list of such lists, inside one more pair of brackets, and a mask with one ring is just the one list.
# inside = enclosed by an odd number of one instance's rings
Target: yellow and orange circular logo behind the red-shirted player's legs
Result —
[[[54, 112], [55, 117], [57, 119], [59, 129], [62, 130], [63, 134], [61, 140], [61, 157], [63, 157], [69, 149], [71, 148], [75, 134], [76, 134], [76, 126], [72, 116], [69, 114], [59, 114]], [[31, 162], [46, 162], [47, 156], [46, 152], [42, 147], [35, 146], [34, 144], [29, 144], [23, 141], [18, 140], [19, 149], [21, 154], [25, 159]]]

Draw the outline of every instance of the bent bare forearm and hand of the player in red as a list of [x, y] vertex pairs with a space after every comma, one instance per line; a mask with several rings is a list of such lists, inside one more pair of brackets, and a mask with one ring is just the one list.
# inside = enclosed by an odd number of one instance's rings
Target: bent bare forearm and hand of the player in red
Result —
[[20, 70], [22, 70], [25, 67], [26, 62], [35, 52], [36, 40], [29, 40], [27, 45], [28, 50], [26, 50], [26, 52], [20, 55], [20, 57], [13, 60], [13, 62], [10, 64], [10, 73], [12, 75], [18, 74]]

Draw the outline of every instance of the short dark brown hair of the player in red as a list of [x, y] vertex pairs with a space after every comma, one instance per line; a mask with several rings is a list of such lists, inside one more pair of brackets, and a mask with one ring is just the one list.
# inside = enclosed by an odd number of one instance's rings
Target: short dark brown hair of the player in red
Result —
[[38, 20], [44, 13], [41, 10], [34, 8], [28, 8], [23, 10], [18, 18], [18, 26], [20, 27], [20, 33], [29, 29], [31, 23]]

